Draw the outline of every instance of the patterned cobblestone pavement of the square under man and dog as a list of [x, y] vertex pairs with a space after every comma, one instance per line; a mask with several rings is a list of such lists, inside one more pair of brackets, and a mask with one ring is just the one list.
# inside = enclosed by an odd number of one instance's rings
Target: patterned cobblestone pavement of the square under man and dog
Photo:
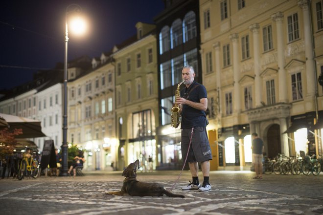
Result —
[[[137, 179], [170, 190], [180, 171], [139, 172]], [[185, 198], [106, 195], [122, 186], [121, 172], [85, 172], [82, 177], [0, 179], [1, 215], [319, 215], [323, 214], [323, 174], [264, 175], [250, 171], [210, 173], [212, 191], [181, 191], [185, 171], [172, 190]], [[200, 175], [200, 180], [203, 180]]]

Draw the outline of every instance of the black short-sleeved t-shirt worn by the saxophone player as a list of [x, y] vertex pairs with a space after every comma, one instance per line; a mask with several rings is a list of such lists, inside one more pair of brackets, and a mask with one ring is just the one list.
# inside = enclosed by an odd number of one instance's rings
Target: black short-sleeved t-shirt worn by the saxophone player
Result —
[[[195, 85], [198, 86], [195, 87]], [[188, 95], [186, 99], [192, 102], [199, 103], [201, 99], [208, 98], [205, 86], [195, 81], [188, 88], [184, 87], [184, 89], [181, 90], [181, 97], [185, 98], [185, 93]], [[183, 105], [181, 129], [206, 126], [207, 123], [204, 110], [198, 110], [188, 105]]]

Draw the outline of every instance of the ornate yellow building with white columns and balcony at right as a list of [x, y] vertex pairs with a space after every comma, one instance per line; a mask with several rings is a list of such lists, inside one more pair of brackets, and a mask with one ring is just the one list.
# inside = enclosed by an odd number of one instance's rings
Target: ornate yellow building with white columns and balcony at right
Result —
[[218, 167], [251, 163], [253, 132], [268, 157], [322, 153], [322, 126], [314, 126], [323, 109], [322, 7], [322, 0], [200, 0]]

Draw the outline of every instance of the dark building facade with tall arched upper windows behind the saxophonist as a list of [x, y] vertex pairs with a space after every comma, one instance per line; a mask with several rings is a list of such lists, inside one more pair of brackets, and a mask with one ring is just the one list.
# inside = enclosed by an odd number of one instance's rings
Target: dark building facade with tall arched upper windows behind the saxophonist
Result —
[[170, 110], [177, 86], [182, 82], [184, 65], [192, 65], [195, 80], [202, 83], [199, 3], [196, 0], [164, 2], [165, 10], [154, 18], [158, 38], [159, 169], [181, 169], [181, 129], [171, 127]]

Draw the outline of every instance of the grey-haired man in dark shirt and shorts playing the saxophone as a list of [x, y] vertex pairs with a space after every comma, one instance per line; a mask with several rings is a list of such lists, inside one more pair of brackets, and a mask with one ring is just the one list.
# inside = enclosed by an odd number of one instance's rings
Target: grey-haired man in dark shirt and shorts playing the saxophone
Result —
[[[208, 97], [205, 86], [195, 82], [194, 77], [194, 68], [190, 65], [184, 66], [182, 79], [185, 87], [181, 90], [181, 97], [176, 99], [182, 113], [182, 157], [185, 159], [188, 151], [187, 162], [192, 175], [192, 181], [189, 181], [190, 184], [187, 186], [182, 187], [182, 190], [209, 192], [211, 191], [209, 161], [212, 160], [212, 154], [206, 129], [207, 118], [205, 111], [208, 107]], [[201, 163], [203, 173], [202, 185], [198, 177], [198, 162]]]

